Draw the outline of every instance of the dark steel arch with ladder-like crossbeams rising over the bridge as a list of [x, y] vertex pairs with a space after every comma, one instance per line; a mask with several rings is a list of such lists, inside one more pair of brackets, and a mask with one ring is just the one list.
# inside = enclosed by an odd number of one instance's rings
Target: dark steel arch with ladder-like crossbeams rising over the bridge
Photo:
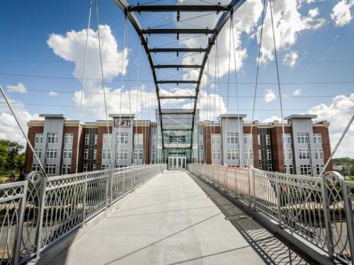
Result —
[[[122, 10], [122, 12], [125, 14], [125, 17], [132, 23], [132, 26], [135, 28], [137, 31], [137, 34], [139, 35], [140, 41], [142, 46], [145, 49], [145, 52], [147, 53], [147, 59], [149, 61], [149, 64], [152, 69], [152, 76], [154, 78], [154, 83], [155, 83], [155, 90], [156, 90], [156, 97], [157, 97], [157, 102], [158, 102], [158, 108], [159, 108], [159, 117], [160, 117], [160, 127], [161, 127], [161, 143], [162, 143], [162, 153], [164, 157], [164, 136], [163, 136], [163, 131], [166, 131], [168, 129], [164, 129], [163, 123], [162, 123], [162, 115], [166, 114], [165, 112], [162, 112], [161, 110], [161, 100], [164, 99], [171, 99], [171, 98], [182, 98], [181, 96], [160, 96], [160, 91], [159, 91], [159, 84], [166, 84], [166, 83], [176, 83], [177, 85], [179, 83], [192, 83], [196, 84], [195, 87], [195, 95], [191, 96], [190, 99], [194, 99], [194, 105], [193, 105], [193, 111], [192, 112], [176, 112], [176, 114], [190, 114], [192, 115], [192, 128], [190, 128], [191, 131], [191, 148], [193, 147], [193, 132], [194, 132], [194, 123], [195, 123], [195, 113], [197, 109], [197, 102], [198, 102], [198, 95], [199, 95], [199, 90], [200, 90], [200, 82], [202, 81], [202, 73], [205, 69], [205, 65], [207, 64], [207, 59], [209, 57], [210, 51], [212, 49], [212, 46], [215, 45], [215, 40], [217, 40], [217, 36], [219, 35], [220, 31], [224, 27], [224, 25], [227, 23], [227, 20], [232, 17], [233, 13], [242, 5], [246, 0], [232, 0], [230, 4], [228, 5], [222, 5], [222, 4], [208, 4], [208, 5], [135, 5], [135, 6], [130, 6], [126, 0], [113, 0], [114, 3]], [[178, 16], [180, 12], [195, 12], [195, 13], [200, 13], [200, 12], [212, 12], [215, 11], [216, 13], [222, 13], [219, 20], [217, 21], [217, 24], [215, 25], [215, 28], [171, 28], [171, 29], [156, 29], [156, 28], [142, 28], [141, 25], [139, 24], [139, 20], [137, 19], [137, 16], [135, 16], [135, 13], [142, 13], [142, 12], [177, 12]], [[181, 47], [173, 47], [173, 48], [156, 48], [156, 47], [149, 47], [147, 43], [147, 37], [146, 35], [152, 35], [152, 34], [205, 34], [205, 35], [210, 35], [209, 40], [207, 42], [207, 47], [203, 48], [181, 48]], [[179, 52], [199, 52], [199, 53], [204, 53], [204, 57], [202, 58], [202, 64], [193, 64], [193, 65], [184, 65], [184, 64], [154, 64], [154, 61], [152, 59], [152, 54], [157, 53], [157, 52], [176, 52], [177, 55]], [[163, 69], [163, 68], [176, 68], [177, 70], [180, 68], [190, 68], [190, 69], [200, 69], [199, 71], [199, 76], [198, 80], [176, 80], [176, 81], [171, 81], [171, 80], [159, 80], [156, 75], [156, 69]], [[189, 98], [189, 96], [188, 96]], [[171, 114], [171, 112], [169, 112]], [[193, 149], [192, 149], [193, 151]], [[190, 161], [192, 160], [192, 155], [193, 152], [190, 152]]]

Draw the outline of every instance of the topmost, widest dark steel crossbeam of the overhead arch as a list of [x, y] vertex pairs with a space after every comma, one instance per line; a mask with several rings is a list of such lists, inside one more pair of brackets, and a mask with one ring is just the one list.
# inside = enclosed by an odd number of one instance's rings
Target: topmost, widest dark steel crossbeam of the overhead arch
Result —
[[231, 6], [222, 5], [137, 5], [137, 6], [127, 6], [127, 11], [130, 12], [211, 12], [211, 11], [229, 11]]

